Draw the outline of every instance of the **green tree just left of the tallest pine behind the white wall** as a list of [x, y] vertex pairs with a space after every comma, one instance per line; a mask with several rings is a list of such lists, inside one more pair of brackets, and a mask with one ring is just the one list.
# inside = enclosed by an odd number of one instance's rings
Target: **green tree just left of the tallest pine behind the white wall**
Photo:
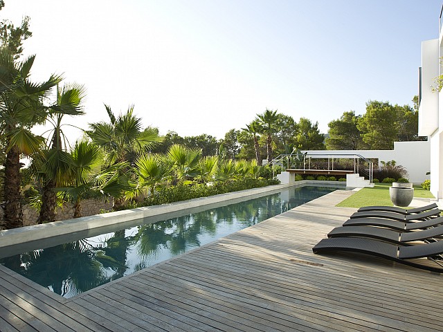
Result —
[[329, 138], [326, 147], [329, 150], [358, 150], [363, 148], [361, 132], [357, 128], [361, 116], [356, 116], [354, 111], [344, 112], [338, 120], [333, 120], [329, 127]]

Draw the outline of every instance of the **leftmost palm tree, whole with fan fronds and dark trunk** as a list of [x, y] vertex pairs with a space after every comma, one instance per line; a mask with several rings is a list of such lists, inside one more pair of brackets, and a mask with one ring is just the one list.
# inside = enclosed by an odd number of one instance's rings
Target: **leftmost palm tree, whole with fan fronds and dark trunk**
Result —
[[46, 82], [30, 81], [35, 55], [17, 62], [8, 48], [0, 50], [0, 136], [6, 142], [4, 226], [23, 223], [20, 192], [20, 156], [39, 151], [43, 138], [30, 129], [42, 124], [48, 114], [43, 101], [62, 77], [51, 75]]

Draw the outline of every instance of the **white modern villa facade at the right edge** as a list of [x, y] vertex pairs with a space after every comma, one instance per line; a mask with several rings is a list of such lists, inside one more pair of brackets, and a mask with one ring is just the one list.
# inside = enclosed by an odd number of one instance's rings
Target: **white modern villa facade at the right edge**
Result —
[[[431, 144], [431, 192], [443, 205], [443, 89], [435, 92], [435, 78], [443, 75], [443, 29], [440, 12], [437, 39], [422, 42], [422, 66], [419, 68], [419, 136], [428, 136]], [[419, 156], [411, 156], [411, 158]]]

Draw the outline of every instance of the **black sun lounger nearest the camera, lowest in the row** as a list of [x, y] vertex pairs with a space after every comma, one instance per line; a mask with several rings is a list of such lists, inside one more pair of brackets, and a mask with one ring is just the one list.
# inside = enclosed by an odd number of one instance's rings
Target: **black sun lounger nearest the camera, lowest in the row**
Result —
[[[397, 246], [372, 239], [357, 239], [354, 237], [333, 237], [323, 239], [312, 248], [314, 254], [328, 254], [332, 252], [350, 251], [361, 252], [381, 258], [397, 261], [401, 264], [422, 268], [424, 270], [443, 273], [440, 263], [435, 260], [437, 255], [443, 253], [443, 241], [418, 244], [417, 246]], [[428, 258], [433, 260], [439, 267], [420, 264], [417, 261], [409, 261], [415, 258]]]

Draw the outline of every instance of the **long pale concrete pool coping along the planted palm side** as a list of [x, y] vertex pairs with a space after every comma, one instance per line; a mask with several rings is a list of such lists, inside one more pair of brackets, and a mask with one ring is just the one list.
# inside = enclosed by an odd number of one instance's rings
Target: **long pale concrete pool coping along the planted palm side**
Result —
[[[200, 197], [198, 199], [190, 199], [187, 201], [179, 201], [174, 203], [152, 205], [143, 208], [130, 210], [122, 210], [109, 212], [105, 214], [95, 214], [93, 216], [83, 216], [77, 219], [66, 219], [64, 221], [55, 221], [53, 223], [43, 223], [41, 225], [30, 225], [12, 230], [0, 231], [0, 248], [9, 246], [17, 246], [20, 243], [31, 241], [41, 241], [53, 237], [60, 237], [66, 234], [76, 232], [84, 232], [105, 226], [116, 225], [128, 221], [148, 218], [152, 216], [160, 216], [179, 212], [181, 210], [189, 210], [199, 208], [205, 205], [213, 205], [217, 203], [233, 201], [235, 199], [253, 199], [254, 196], [263, 196], [271, 192], [278, 192], [289, 187], [302, 187], [305, 185], [338, 187], [345, 188], [345, 184], [337, 181], [310, 181], [302, 180], [293, 184], [269, 185], [266, 187], [253, 188], [250, 190], [241, 190], [238, 192], [228, 192], [226, 194], [217, 194], [214, 196]], [[155, 221], [154, 221], [155, 222]]]

